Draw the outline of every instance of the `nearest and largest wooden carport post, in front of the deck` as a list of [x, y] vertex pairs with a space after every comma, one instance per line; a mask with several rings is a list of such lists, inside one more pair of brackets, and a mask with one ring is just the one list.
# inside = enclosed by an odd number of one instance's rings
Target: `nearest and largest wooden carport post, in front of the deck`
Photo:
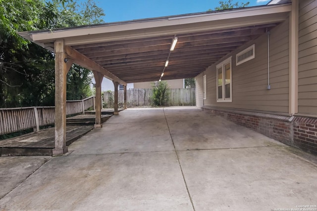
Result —
[[63, 40], [56, 40], [55, 50], [55, 148], [53, 155], [68, 152], [66, 147], [66, 75], [67, 54]]

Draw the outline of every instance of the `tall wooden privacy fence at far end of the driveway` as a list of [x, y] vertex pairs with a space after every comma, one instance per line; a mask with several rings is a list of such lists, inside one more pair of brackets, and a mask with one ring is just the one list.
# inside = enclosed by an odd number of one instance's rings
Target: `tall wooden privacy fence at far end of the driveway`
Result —
[[[167, 99], [167, 106], [195, 106], [195, 88], [170, 88]], [[104, 103], [108, 108], [113, 108], [113, 91], [104, 92]], [[118, 104], [123, 107], [124, 90], [118, 90]], [[134, 88], [127, 90], [128, 107], [152, 106], [153, 91], [151, 88]]]

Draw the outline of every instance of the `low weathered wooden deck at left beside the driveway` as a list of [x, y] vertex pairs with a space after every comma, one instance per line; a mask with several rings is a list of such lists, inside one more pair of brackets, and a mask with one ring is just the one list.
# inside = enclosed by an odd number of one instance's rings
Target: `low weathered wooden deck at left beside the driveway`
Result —
[[[66, 146], [92, 130], [94, 126], [67, 126]], [[0, 156], [42, 156], [53, 155], [55, 128], [42, 129], [0, 141]]]

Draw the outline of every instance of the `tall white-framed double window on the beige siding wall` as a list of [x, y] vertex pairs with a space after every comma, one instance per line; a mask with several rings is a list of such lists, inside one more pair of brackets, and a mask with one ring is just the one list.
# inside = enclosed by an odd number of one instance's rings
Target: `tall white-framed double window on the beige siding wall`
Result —
[[231, 56], [218, 64], [217, 68], [217, 102], [232, 102]]

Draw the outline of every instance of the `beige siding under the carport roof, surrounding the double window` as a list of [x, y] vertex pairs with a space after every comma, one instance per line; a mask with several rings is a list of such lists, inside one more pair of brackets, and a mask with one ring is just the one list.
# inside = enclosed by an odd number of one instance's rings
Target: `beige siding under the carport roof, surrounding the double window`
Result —
[[[267, 35], [232, 52], [232, 102], [216, 102], [217, 62], [207, 69], [205, 105], [288, 113], [289, 100], [289, 21], [270, 32], [270, 85], [267, 90]], [[236, 53], [255, 43], [255, 58], [236, 66]], [[223, 58], [226, 59], [226, 58]]]

